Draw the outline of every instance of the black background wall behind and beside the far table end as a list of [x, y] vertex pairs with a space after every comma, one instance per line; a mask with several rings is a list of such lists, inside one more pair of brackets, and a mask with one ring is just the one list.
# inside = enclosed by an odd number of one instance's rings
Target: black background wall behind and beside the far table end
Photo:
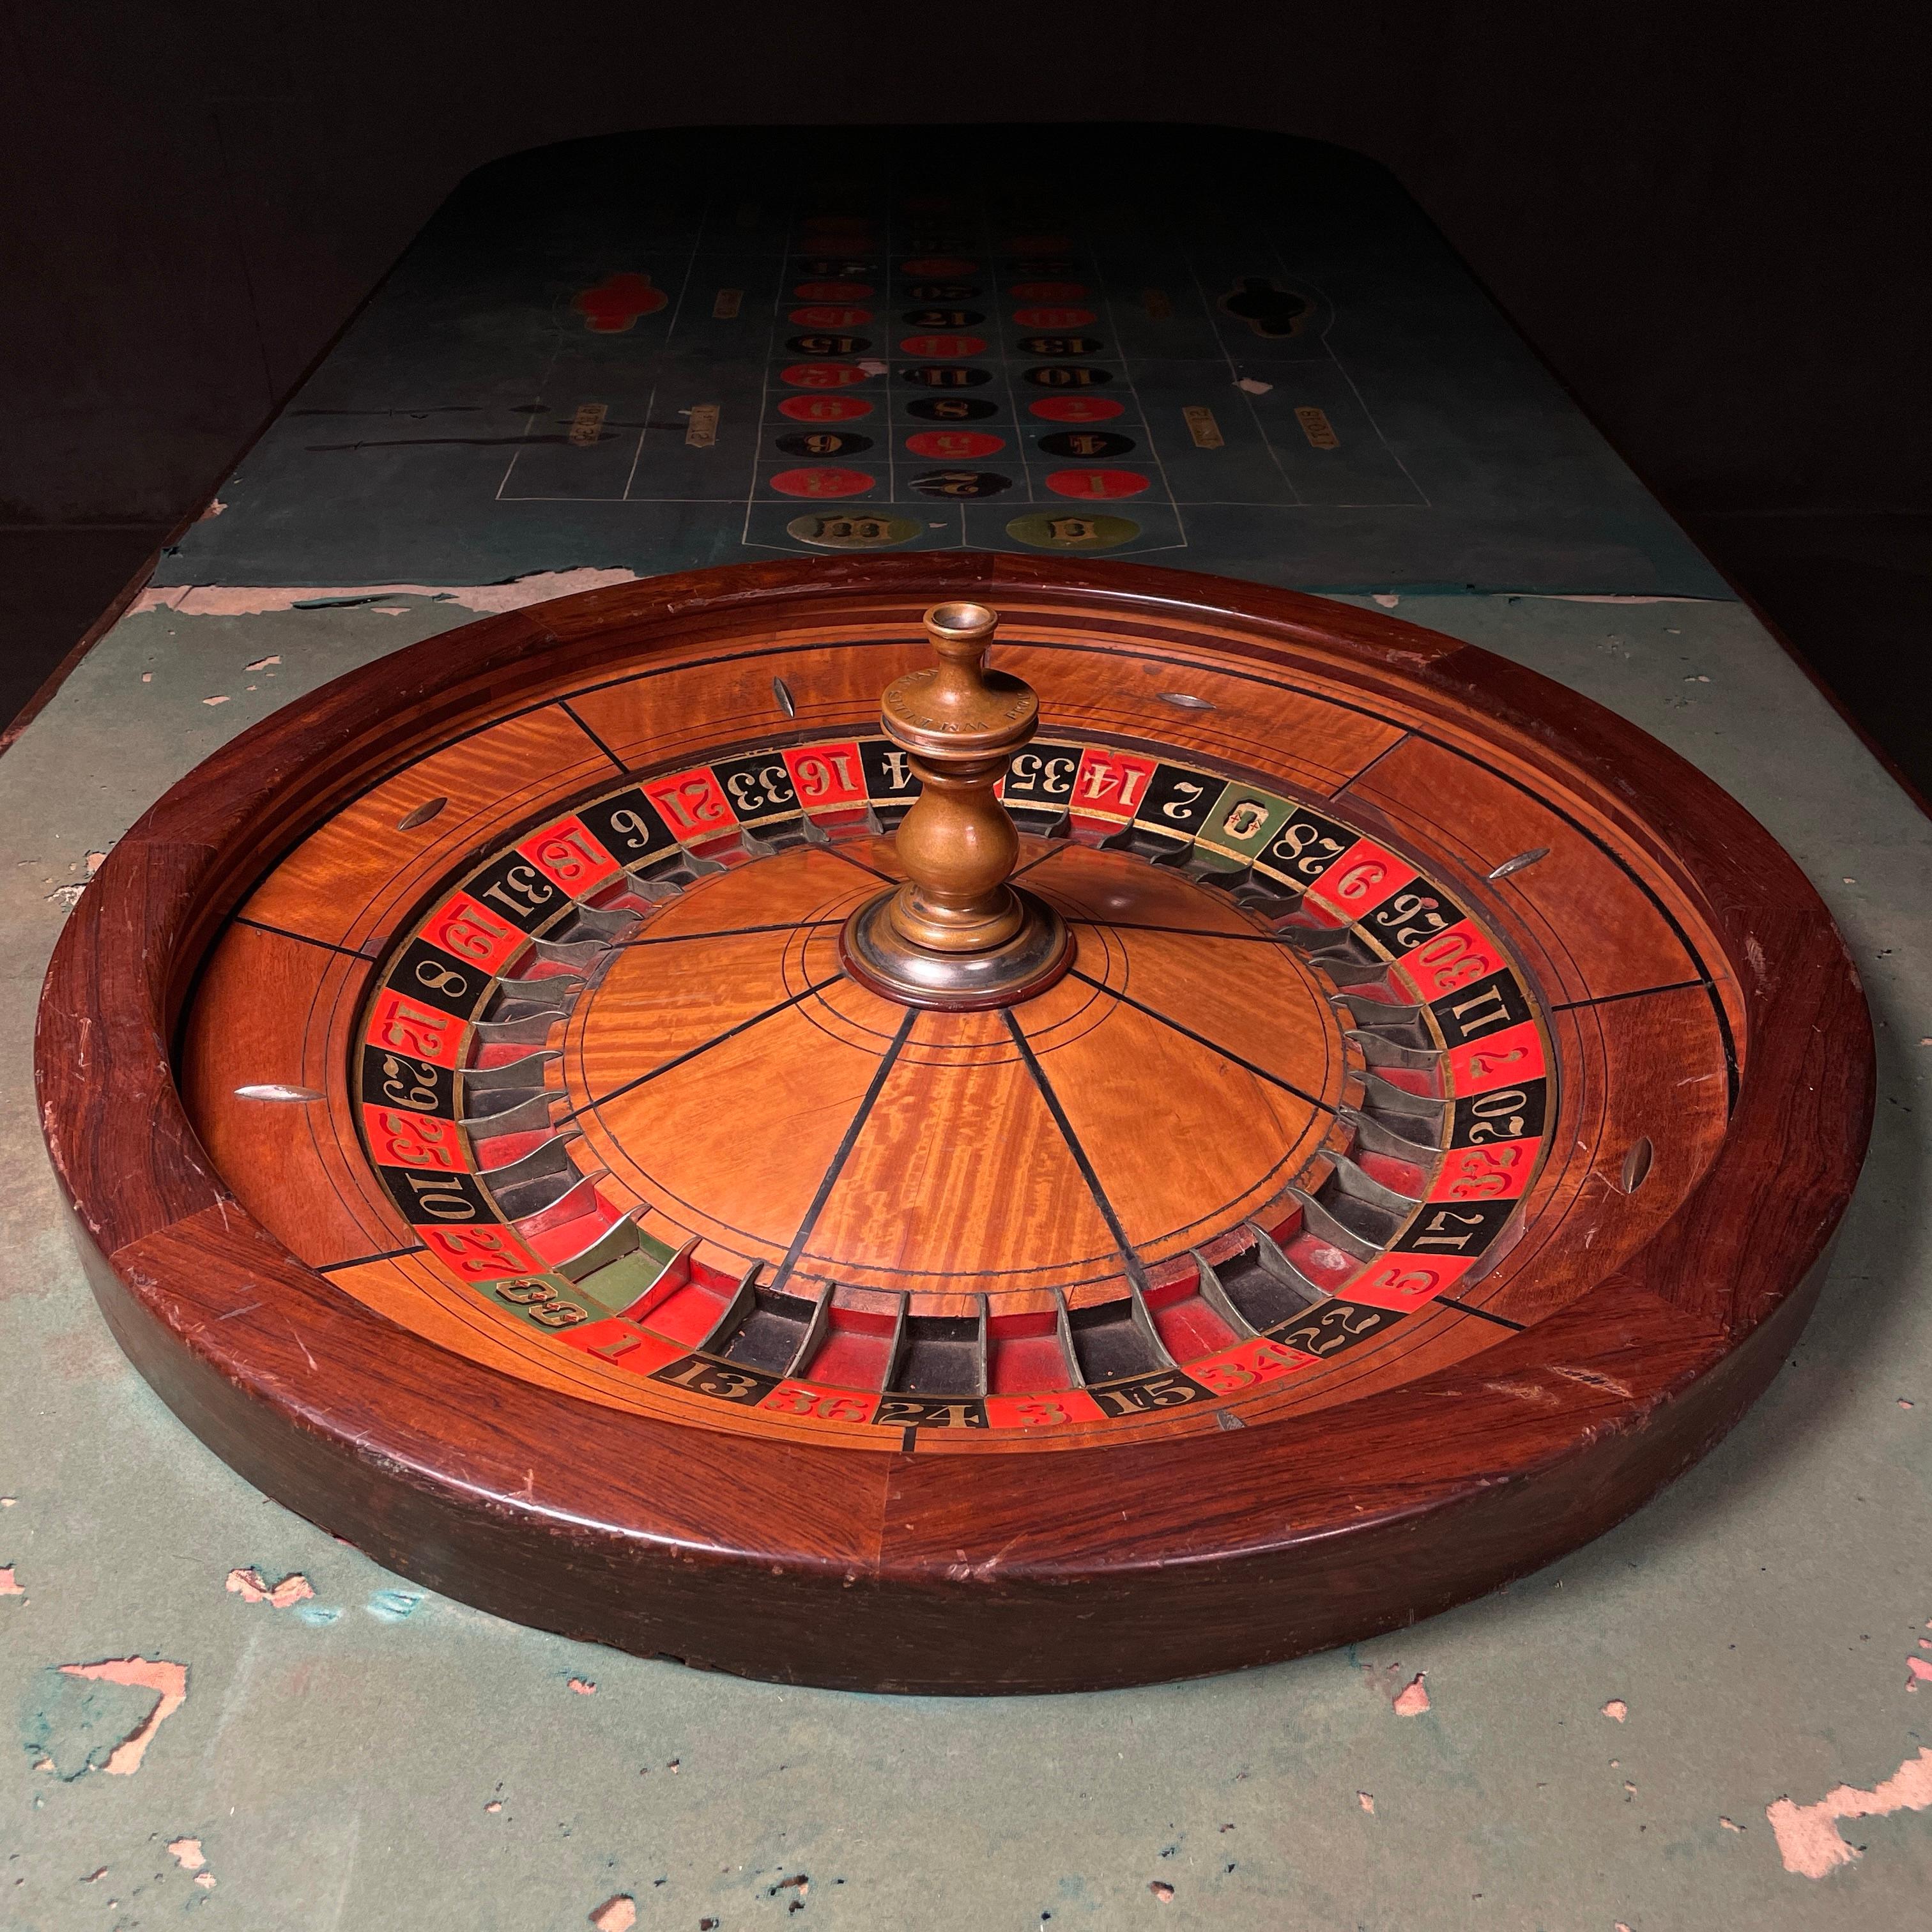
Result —
[[[1650, 0], [1592, 17], [0, 0], [0, 626], [12, 609], [25, 636], [23, 601], [66, 595], [77, 634], [108, 562], [207, 497], [466, 172], [692, 122], [931, 120], [978, 143], [999, 135], [943, 124], [1204, 120], [1360, 149], [1747, 587], [1810, 554], [1917, 597], [1922, 29]], [[1870, 653], [1832, 628], [1806, 649], [1851, 697]]]

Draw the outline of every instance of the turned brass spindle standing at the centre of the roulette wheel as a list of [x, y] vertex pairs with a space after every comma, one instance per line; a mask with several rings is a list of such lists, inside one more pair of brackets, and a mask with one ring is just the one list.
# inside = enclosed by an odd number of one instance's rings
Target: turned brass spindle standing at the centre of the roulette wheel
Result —
[[1020, 835], [993, 792], [1039, 728], [1039, 701], [985, 668], [997, 624], [985, 605], [935, 605], [925, 634], [939, 663], [895, 680], [879, 703], [922, 790], [895, 840], [906, 883], [860, 906], [838, 951], [854, 980], [910, 1007], [1007, 1007], [1072, 962], [1061, 916], [1007, 883]]

